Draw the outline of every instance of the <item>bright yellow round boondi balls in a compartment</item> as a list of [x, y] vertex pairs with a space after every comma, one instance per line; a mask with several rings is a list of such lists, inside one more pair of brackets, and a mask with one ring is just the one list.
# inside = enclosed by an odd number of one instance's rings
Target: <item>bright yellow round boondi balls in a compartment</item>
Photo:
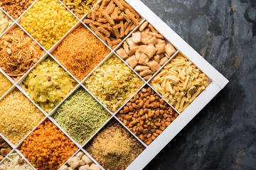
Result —
[[21, 17], [21, 26], [46, 50], [77, 22], [78, 19], [58, 0], [39, 0]]

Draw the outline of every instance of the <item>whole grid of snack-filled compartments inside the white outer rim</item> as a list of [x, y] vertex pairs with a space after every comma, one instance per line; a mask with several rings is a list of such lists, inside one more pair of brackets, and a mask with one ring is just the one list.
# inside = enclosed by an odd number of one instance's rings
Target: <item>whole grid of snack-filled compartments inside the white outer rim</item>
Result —
[[0, 4], [0, 168], [126, 169], [210, 83], [125, 1], [27, 2]]

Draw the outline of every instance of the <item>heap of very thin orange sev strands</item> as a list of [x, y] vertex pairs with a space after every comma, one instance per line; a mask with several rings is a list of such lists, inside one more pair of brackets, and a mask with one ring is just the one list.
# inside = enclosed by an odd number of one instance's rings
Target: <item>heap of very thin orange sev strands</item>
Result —
[[90, 30], [79, 26], [58, 45], [53, 56], [82, 81], [109, 53]]

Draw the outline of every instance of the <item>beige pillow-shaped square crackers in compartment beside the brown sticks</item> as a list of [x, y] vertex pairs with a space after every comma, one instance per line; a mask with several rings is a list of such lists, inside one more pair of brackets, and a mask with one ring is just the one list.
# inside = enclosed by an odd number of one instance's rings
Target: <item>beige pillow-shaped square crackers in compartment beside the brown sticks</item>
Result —
[[142, 23], [130, 38], [124, 41], [117, 54], [125, 60], [143, 79], [149, 80], [176, 49], [166, 42], [148, 21]]

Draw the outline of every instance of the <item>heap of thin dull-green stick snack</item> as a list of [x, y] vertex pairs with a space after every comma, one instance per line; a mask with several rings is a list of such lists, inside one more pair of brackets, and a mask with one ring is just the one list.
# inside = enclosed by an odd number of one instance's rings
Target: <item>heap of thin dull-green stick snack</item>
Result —
[[83, 145], [110, 118], [105, 108], [85, 89], [78, 89], [53, 115], [56, 122]]

